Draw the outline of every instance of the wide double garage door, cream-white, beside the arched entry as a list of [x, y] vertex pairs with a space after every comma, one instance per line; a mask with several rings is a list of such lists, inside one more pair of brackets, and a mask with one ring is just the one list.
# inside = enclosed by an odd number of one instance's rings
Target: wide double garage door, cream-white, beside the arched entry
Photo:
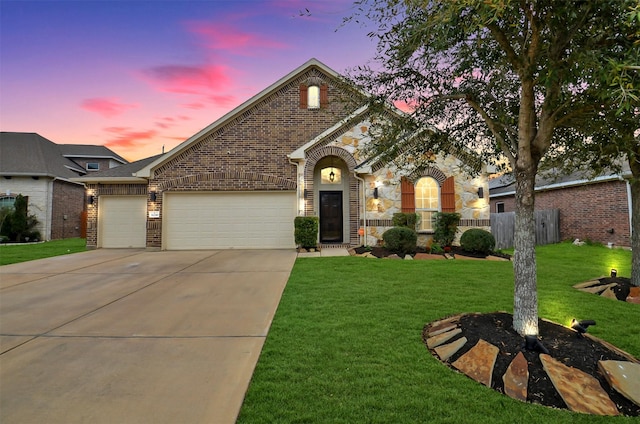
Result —
[[179, 249], [292, 248], [295, 192], [166, 193], [163, 245]]

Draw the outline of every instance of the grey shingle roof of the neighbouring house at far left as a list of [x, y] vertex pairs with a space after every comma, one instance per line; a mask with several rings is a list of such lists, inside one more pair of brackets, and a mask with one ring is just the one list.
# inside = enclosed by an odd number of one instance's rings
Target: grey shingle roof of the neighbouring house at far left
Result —
[[85, 170], [62, 155], [60, 146], [36, 133], [0, 133], [0, 175], [73, 178]]

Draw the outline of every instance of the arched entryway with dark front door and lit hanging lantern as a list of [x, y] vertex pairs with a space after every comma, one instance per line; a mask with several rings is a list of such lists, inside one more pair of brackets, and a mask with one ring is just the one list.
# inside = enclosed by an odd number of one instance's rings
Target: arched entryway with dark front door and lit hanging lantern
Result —
[[349, 173], [337, 156], [318, 161], [314, 169], [315, 209], [320, 218], [320, 243], [349, 240]]

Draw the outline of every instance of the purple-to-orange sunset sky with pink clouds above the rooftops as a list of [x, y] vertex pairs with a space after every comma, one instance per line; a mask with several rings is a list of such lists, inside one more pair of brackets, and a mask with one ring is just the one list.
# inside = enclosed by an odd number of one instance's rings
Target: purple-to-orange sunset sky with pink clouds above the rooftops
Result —
[[0, 129], [155, 155], [312, 57], [340, 73], [366, 63], [371, 28], [342, 26], [352, 12], [352, 0], [1, 0]]

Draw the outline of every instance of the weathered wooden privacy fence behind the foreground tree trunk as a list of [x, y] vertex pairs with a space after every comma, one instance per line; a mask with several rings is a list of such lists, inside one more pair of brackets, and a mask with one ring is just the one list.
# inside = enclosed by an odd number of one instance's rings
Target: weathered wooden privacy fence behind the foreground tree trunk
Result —
[[[560, 210], [535, 211], [536, 244], [551, 244], [560, 241]], [[492, 213], [491, 234], [496, 239], [496, 249], [513, 247], [516, 213]]]

